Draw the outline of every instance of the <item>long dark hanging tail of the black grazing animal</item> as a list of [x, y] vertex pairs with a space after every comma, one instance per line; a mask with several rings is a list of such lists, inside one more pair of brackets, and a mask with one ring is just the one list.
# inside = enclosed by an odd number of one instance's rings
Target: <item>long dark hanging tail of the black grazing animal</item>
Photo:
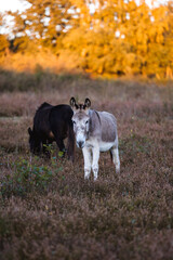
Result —
[[72, 122], [68, 125], [67, 156], [72, 162], [75, 161], [75, 133]]

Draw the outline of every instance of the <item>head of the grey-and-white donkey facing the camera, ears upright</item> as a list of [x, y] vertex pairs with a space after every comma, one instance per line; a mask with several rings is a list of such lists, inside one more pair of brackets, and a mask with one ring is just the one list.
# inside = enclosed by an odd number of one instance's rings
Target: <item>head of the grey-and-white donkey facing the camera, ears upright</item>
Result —
[[85, 99], [84, 104], [77, 104], [75, 98], [71, 98], [70, 105], [74, 110], [72, 123], [77, 146], [83, 148], [89, 136], [91, 101]]

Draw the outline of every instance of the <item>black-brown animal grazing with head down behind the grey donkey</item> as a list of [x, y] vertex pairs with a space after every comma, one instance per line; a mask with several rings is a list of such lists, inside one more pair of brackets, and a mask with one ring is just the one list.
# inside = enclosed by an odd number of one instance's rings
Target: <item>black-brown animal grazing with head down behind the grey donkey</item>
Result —
[[34, 117], [32, 130], [28, 128], [30, 152], [34, 154], [45, 154], [50, 157], [48, 144], [56, 141], [59, 151], [65, 155], [64, 140], [67, 141], [67, 156], [74, 161], [75, 135], [71, 117], [74, 112], [69, 105], [52, 106], [43, 103]]

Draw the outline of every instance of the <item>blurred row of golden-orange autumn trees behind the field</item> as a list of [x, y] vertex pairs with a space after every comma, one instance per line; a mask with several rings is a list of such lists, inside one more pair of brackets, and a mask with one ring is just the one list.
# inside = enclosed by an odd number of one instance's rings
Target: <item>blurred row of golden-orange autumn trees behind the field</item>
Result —
[[[51, 53], [77, 69], [114, 77], [173, 78], [173, 1], [27, 0], [12, 32], [0, 35], [0, 56]], [[70, 65], [69, 65], [70, 66]]]

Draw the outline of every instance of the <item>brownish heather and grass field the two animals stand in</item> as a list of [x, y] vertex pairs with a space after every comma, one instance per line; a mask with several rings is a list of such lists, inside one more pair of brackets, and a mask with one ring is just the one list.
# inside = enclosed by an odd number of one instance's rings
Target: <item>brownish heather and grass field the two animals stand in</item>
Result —
[[[13, 91], [1, 76], [0, 259], [173, 259], [172, 83], [61, 77], [26, 91], [18, 82]], [[117, 117], [120, 174], [109, 153], [96, 182], [84, 181], [78, 148], [75, 165], [55, 145], [51, 160], [30, 156], [36, 108], [71, 95]]]

